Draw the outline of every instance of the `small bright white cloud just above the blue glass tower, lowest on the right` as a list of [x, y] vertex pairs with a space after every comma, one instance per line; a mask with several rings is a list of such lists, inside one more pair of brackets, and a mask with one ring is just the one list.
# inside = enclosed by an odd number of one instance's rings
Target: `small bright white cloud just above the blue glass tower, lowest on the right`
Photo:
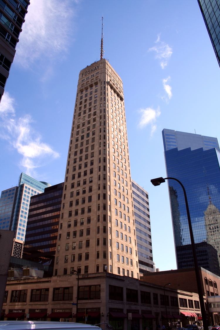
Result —
[[143, 128], [146, 125], [151, 125], [151, 136], [152, 136], [157, 128], [156, 119], [161, 114], [160, 107], [158, 107], [157, 109], [153, 109], [153, 108], [141, 109], [140, 113], [141, 113], [141, 119], [139, 122], [139, 127]]

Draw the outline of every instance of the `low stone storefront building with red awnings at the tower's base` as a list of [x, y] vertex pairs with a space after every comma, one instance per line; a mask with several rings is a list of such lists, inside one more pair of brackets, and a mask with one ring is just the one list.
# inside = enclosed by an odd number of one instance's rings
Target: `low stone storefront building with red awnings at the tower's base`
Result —
[[171, 326], [184, 326], [201, 315], [197, 293], [167, 286], [164, 299], [163, 282], [157, 285], [105, 272], [79, 275], [77, 313], [77, 284], [76, 274], [11, 279], [2, 319], [85, 322], [86, 318], [90, 324], [109, 322], [118, 330], [155, 330], [166, 317]]

